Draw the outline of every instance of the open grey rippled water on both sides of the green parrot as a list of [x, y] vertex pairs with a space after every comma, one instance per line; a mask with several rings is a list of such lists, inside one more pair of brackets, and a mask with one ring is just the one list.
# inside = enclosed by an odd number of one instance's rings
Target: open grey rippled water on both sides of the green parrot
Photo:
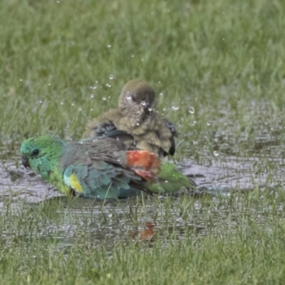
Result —
[[[253, 190], [254, 187], [274, 187], [281, 183], [283, 171], [276, 173], [274, 183], [268, 181], [266, 172], [254, 171], [254, 165], [258, 159], [249, 158], [247, 161], [238, 162], [237, 157], [227, 157], [227, 161], [213, 161], [212, 165], [204, 166], [192, 164], [191, 160], [185, 159], [177, 163], [178, 169], [188, 177], [191, 177], [197, 185], [222, 189], [222, 194], [227, 194], [234, 190]], [[274, 160], [274, 162], [281, 161]], [[0, 165], [0, 191], [1, 199], [12, 197], [17, 201], [41, 202], [52, 197], [63, 196], [54, 187], [45, 182], [40, 175], [36, 175], [31, 170], [26, 170], [19, 160], [19, 167], [14, 161], [3, 160]], [[1, 202], [0, 199], [0, 202]]]

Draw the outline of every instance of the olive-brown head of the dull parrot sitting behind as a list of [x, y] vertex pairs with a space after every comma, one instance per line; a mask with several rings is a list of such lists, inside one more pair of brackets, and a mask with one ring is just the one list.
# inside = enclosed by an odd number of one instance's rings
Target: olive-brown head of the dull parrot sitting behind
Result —
[[142, 120], [156, 111], [155, 90], [146, 81], [129, 81], [120, 93], [119, 108], [123, 115]]

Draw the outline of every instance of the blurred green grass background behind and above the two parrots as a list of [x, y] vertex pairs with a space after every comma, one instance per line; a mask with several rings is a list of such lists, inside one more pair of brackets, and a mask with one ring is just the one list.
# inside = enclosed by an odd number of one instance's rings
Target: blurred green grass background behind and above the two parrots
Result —
[[[160, 113], [197, 142], [182, 135], [177, 157], [205, 144], [240, 152], [239, 137], [252, 144], [260, 120], [269, 133], [284, 124], [283, 1], [11, 0], [0, 8], [4, 142], [18, 147], [46, 133], [77, 140], [133, 78], [150, 81]], [[232, 138], [224, 150], [214, 143], [223, 132]]]

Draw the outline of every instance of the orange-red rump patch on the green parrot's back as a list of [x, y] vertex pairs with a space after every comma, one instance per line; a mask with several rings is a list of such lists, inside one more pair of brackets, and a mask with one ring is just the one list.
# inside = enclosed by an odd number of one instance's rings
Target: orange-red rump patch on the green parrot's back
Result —
[[145, 180], [155, 177], [160, 171], [160, 158], [148, 150], [128, 150], [128, 166]]

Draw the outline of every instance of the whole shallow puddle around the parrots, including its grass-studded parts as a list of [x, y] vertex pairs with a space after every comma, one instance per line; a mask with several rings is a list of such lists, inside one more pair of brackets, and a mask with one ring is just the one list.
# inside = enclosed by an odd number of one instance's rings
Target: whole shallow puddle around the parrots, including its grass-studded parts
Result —
[[[18, 152], [1, 146], [1, 214], [7, 211], [7, 203], [12, 215], [19, 215], [17, 209], [25, 203], [28, 208], [42, 207], [43, 203], [51, 200], [61, 204], [62, 207], [58, 207], [54, 212], [59, 215], [58, 219], [51, 217], [39, 222], [36, 232], [32, 233], [41, 239], [56, 240], [60, 248], [72, 246], [74, 243], [103, 243], [105, 247], [112, 248], [118, 241], [128, 243], [140, 237], [139, 233], [144, 233], [147, 222], [154, 226], [154, 232], [150, 236], [154, 238], [158, 235], [162, 239], [170, 235], [173, 238], [174, 233], [177, 239], [184, 238], [185, 233], [189, 236], [189, 232], [202, 236], [228, 227], [234, 232], [234, 225], [239, 223], [239, 217], [244, 214], [266, 227], [270, 203], [263, 204], [262, 207], [257, 203], [255, 207], [247, 208], [244, 207], [239, 194], [234, 198], [233, 204], [221, 204], [217, 195], [217, 189], [222, 189], [222, 195], [225, 197], [231, 197], [233, 192], [244, 193], [254, 189], [269, 189], [274, 195], [274, 189], [284, 185], [284, 128], [279, 121], [266, 121], [264, 118], [268, 113], [259, 115], [262, 120], [252, 124], [254, 134], [258, 135], [241, 133], [237, 139], [234, 135], [237, 126], [227, 124], [224, 130], [214, 134], [214, 141], [219, 141], [219, 155], [213, 156], [207, 147], [205, 149], [198, 142], [196, 151], [199, 148], [199, 160], [204, 163], [197, 164], [188, 158], [176, 162], [185, 175], [195, 180], [198, 185], [208, 187], [212, 193], [211, 207], [204, 208], [199, 197], [189, 199], [189, 203], [193, 203], [191, 207], [182, 207], [179, 195], [172, 197], [171, 201], [165, 197], [154, 196], [140, 199], [140, 202], [137, 199], [129, 199], [105, 203], [76, 197], [72, 200], [71, 207], [70, 199], [60, 195], [40, 176], [21, 166]], [[182, 142], [186, 142], [185, 153], [189, 153], [188, 157], [191, 157], [192, 145], [187, 143], [187, 138]], [[213, 150], [215, 146], [214, 144]], [[281, 215], [283, 211], [284, 205], [279, 204], [277, 214]], [[6, 242], [14, 242], [30, 236], [31, 232], [19, 227], [14, 232], [2, 231], [1, 238]]]

